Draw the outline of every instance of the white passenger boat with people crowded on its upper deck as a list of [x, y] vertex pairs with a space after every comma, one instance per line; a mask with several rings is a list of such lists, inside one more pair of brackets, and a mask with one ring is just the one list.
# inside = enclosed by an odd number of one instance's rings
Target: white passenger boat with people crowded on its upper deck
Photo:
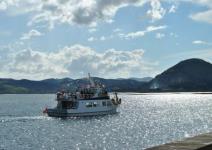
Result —
[[95, 83], [88, 74], [89, 84], [75, 92], [57, 92], [55, 108], [46, 108], [43, 113], [50, 117], [99, 116], [117, 113], [121, 99], [117, 93], [110, 97], [106, 87]]

